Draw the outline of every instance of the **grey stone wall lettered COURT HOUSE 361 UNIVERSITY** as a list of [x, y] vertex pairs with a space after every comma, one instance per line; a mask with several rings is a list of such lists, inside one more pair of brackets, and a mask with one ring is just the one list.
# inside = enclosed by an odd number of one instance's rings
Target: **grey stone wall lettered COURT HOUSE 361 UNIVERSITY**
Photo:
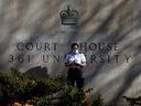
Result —
[[[107, 104], [140, 95], [141, 1], [66, 1], [0, 0], [0, 70], [66, 71], [64, 55], [78, 42], [87, 56], [86, 87], [100, 91]], [[67, 3], [79, 12], [77, 33], [62, 31], [59, 12]]]

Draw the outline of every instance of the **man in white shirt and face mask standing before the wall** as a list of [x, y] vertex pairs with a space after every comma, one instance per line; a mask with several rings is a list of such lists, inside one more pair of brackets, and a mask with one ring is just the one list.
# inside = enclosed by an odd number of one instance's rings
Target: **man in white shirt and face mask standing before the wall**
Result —
[[68, 67], [67, 84], [74, 86], [76, 83], [77, 88], [82, 89], [84, 86], [82, 67], [86, 66], [86, 57], [78, 47], [77, 43], [70, 45], [72, 51], [66, 55], [65, 65]]

